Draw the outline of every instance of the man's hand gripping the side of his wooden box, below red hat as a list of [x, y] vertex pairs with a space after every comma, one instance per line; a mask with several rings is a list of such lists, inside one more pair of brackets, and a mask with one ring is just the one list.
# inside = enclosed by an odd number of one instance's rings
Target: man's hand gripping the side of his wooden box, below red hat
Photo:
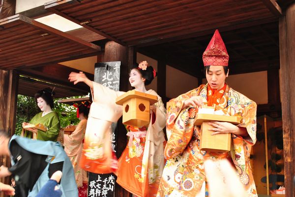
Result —
[[211, 135], [217, 135], [222, 133], [235, 134], [238, 131], [238, 127], [232, 123], [211, 121], [208, 124], [214, 126], [214, 128], [208, 129], [209, 131], [215, 131]]

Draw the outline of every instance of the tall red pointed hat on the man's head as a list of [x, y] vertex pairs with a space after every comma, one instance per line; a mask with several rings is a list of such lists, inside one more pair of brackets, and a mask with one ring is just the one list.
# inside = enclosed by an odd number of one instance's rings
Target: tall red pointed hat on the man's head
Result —
[[204, 66], [228, 66], [229, 54], [225, 48], [224, 42], [219, 34], [218, 29], [215, 30], [207, 49], [203, 53]]

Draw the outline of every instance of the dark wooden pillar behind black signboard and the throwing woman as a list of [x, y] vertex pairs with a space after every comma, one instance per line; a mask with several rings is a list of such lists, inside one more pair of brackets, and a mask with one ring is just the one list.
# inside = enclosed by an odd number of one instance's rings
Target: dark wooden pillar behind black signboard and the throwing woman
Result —
[[[124, 47], [114, 41], [107, 42], [105, 45], [104, 61], [121, 61], [120, 67], [120, 91], [131, 90], [129, 83], [129, 65], [136, 62], [136, 52], [134, 48]], [[118, 121], [118, 138], [117, 138], [117, 157], [122, 154], [127, 145], [126, 129], [122, 124], [122, 119]], [[124, 190], [116, 183], [116, 197], [132, 197], [132, 194]]]

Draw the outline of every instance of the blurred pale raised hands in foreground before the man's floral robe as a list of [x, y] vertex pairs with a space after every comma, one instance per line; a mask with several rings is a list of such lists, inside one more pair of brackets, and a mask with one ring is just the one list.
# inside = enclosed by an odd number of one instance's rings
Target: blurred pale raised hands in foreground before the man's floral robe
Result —
[[205, 173], [210, 197], [247, 197], [245, 188], [228, 160], [206, 160]]

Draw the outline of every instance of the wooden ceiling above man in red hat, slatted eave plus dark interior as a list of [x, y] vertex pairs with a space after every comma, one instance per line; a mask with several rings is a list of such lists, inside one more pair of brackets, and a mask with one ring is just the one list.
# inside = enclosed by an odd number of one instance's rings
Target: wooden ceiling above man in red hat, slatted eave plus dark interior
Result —
[[279, 67], [274, 0], [53, 0], [45, 9], [197, 77], [217, 28], [231, 74]]

